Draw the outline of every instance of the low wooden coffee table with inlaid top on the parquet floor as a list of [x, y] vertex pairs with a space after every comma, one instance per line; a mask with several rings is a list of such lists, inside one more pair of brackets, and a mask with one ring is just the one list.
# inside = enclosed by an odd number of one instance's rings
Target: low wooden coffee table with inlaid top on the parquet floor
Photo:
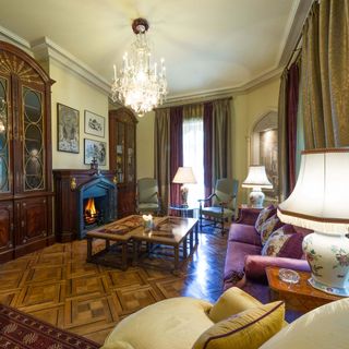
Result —
[[[139, 251], [142, 242], [148, 245], [160, 244], [173, 248], [174, 269], [179, 273], [180, 250], [183, 260], [192, 254], [198, 243], [197, 219], [181, 217], [155, 217], [154, 228], [143, 226], [142, 216], [132, 215], [113, 222], [87, 231], [87, 262], [113, 267], [128, 268], [128, 251], [133, 248], [133, 264], [137, 264]], [[105, 249], [94, 253], [94, 240], [105, 240]], [[113, 244], [111, 245], [111, 242]], [[119, 253], [113, 253], [116, 248], [121, 250], [121, 261], [118, 263]], [[189, 250], [189, 251], [188, 251]], [[189, 253], [188, 253], [189, 252]]]

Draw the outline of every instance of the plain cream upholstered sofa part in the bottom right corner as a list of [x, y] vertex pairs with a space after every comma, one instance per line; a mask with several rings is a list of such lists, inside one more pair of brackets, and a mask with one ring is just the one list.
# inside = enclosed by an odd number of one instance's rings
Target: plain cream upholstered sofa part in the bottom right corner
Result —
[[349, 298], [322, 305], [302, 315], [261, 349], [348, 349]]

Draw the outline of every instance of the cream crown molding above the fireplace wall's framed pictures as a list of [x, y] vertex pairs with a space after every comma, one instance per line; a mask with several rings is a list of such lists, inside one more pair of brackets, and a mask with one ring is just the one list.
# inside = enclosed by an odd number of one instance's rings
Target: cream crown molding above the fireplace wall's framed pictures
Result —
[[31, 43], [31, 48], [35, 58], [39, 61], [52, 59], [59, 62], [69, 71], [83, 77], [87, 83], [92, 84], [97, 89], [109, 96], [110, 83], [101, 75], [94, 71], [83, 61], [71, 55], [69, 51], [53, 43], [48, 37], [41, 37], [38, 40]]

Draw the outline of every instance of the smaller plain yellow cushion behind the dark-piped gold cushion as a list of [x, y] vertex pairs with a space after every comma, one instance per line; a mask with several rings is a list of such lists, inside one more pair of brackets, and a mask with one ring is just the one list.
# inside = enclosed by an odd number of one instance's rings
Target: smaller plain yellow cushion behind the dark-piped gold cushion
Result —
[[218, 323], [231, 315], [241, 313], [250, 308], [258, 306], [262, 303], [238, 287], [225, 291], [209, 311], [209, 318]]

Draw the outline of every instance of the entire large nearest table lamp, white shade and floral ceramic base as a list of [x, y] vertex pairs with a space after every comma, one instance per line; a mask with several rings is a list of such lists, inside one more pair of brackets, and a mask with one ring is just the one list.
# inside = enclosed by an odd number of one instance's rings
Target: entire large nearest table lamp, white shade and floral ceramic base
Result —
[[291, 195], [278, 206], [279, 218], [313, 229], [303, 240], [316, 289], [349, 296], [349, 148], [302, 153]]

